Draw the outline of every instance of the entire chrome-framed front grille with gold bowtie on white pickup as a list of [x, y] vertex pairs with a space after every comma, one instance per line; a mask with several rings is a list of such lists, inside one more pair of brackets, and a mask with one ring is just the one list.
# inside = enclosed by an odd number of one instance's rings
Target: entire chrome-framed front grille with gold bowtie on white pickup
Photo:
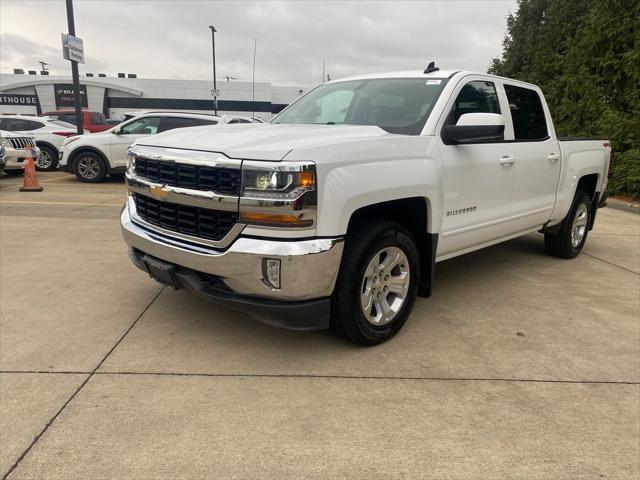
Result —
[[132, 220], [174, 241], [226, 248], [239, 223], [240, 160], [220, 153], [134, 145], [125, 179]]

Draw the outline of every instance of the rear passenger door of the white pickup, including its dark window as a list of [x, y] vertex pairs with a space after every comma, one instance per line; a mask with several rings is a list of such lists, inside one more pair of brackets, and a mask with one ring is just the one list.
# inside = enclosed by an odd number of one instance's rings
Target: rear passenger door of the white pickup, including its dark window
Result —
[[556, 203], [560, 147], [542, 95], [530, 86], [504, 81], [514, 140], [513, 224], [520, 230], [546, 223]]

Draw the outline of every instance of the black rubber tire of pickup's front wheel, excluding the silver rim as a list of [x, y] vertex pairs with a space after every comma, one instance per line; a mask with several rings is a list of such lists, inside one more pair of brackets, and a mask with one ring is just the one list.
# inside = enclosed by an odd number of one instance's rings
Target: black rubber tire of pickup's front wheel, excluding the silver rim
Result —
[[[409, 267], [409, 287], [401, 307], [384, 325], [374, 325], [360, 303], [365, 272], [377, 253], [385, 248], [400, 249]], [[382, 257], [384, 258], [384, 257]], [[402, 265], [404, 266], [404, 265]], [[364, 346], [377, 345], [393, 337], [404, 325], [418, 293], [420, 261], [411, 233], [402, 225], [386, 220], [367, 222], [349, 233], [331, 302], [331, 328], [345, 339]]]

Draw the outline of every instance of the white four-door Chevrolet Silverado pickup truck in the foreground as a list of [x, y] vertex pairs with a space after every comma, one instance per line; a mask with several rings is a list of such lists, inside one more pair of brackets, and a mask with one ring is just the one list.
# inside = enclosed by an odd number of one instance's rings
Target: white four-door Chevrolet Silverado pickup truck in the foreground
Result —
[[391, 338], [436, 262], [530, 232], [580, 253], [609, 142], [556, 137], [535, 85], [464, 71], [325, 83], [270, 124], [129, 151], [121, 224], [151, 277], [299, 330]]

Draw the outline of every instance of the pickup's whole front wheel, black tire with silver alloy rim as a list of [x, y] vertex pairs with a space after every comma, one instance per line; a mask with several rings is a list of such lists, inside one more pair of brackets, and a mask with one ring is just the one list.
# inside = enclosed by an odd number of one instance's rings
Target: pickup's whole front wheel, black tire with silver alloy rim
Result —
[[389, 340], [411, 313], [419, 276], [418, 249], [403, 226], [382, 220], [355, 229], [332, 298], [332, 328], [360, 345]]

